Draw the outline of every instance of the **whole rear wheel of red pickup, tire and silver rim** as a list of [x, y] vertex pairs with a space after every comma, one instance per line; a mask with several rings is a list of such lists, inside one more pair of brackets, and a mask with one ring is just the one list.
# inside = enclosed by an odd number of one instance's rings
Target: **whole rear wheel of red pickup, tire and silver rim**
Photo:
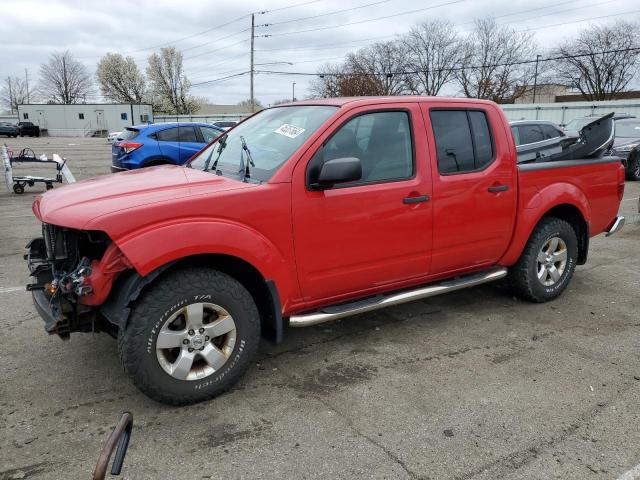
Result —
[[559, 218], [543, 218], [516, 263], [509, 270], [514, 293], [532, 302], [558, 297], [571, 281], [578, 258], [573, 227]]

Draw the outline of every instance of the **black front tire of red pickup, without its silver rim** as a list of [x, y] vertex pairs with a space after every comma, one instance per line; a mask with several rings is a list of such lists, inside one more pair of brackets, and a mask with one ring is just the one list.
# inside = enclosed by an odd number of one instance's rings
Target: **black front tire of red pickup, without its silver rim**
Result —
[[[236, 341], [226, 363], [198, 380], [179, 380], [160, 366], [156, 340], [163, 323], [177, 310], [197, 300], [212, 302], [233, 317]], [[159, 277], [147, 286], [118, 335], [118, 351], [125, 372], [148, 397], [170, 405], [188, 405], [211, 399], [231, 388], [245, 373], [260, 339], [260, 316], [249, 292], [222, 272], [183, 268]]]

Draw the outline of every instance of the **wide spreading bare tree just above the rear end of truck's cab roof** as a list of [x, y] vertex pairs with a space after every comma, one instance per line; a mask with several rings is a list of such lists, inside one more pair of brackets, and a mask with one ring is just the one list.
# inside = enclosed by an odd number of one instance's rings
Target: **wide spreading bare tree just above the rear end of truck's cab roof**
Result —
[[461, 69], [457, 79], [467, 97], [510, 103], [525, 93], [534, 67], [522, 63], [535, 57], [531, 34], [500, 26], [492, 18], [476, 20], [475, 28], [462, 44]]

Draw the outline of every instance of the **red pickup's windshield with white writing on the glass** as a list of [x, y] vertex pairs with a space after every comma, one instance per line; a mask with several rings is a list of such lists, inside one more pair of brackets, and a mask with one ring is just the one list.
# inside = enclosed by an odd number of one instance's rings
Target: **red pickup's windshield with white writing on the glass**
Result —
[[263, 110], [218, 137], [190, 166], [244, 178], [238, 173], [248, 161], [244, 141], [253, 160], [249, 178], [267, 181], [337, 108], [308, 105]]

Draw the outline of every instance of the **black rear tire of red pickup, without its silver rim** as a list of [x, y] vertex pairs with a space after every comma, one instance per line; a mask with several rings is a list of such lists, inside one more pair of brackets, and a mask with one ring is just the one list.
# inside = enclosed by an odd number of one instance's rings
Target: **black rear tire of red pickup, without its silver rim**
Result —
[[[560, 279], [544, 286], [538, 279], [538, 253], [553, 237], [561, 238], [567, 247], [567, 263]], [[509, 269], [508, 281], [513, 293], [531, 302], [548, 302], [558, 297], [571, 281], [578, 258], [578, 239], [573, 227], [564, 220], [546, 217], [534, 228], [518, 262]]]

